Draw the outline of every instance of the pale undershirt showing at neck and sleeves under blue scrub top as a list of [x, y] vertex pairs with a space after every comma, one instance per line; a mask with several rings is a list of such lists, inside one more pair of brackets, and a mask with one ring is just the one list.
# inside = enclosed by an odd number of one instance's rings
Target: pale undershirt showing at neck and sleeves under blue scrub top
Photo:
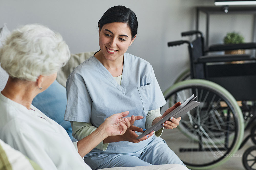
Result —
[[[121, 85], [122, 75], [118, 77], [114, 77], [116, 82], [118, 82], [119, 85]], [[160, 108], [156, 110], [148, 111], [148, 114], [146, 116], [146, 129], [150, 128], [152, 126], [153, 120], [158, 117], [162, 116], [160, 114]], [[85, 122], [70, 122], [72, 127], [72, 135], [75, 139], [81, 140], [84, 137], [90, 135], [97, 127], [93, 126], [91, 123], [85, 123]], [[162, 135], [163, 128], [155, 132], [155, 136], [159, 137]], [[108, 148], [109, 143], [103, 143], [101, 141], [95, 148], [100, 149], [102, 151], [105, 151]]]

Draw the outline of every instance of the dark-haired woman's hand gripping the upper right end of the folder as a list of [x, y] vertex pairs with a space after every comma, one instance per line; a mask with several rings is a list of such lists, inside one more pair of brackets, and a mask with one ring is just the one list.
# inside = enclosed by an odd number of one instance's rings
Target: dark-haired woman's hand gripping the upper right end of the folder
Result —
[[[161, 120], [164, 116], [166, 116], [168, 113], [170, 113], [171, 111], [173, 111], [176, 107], [178, 107], [181, 103], [177, 102], [175, 103], [172, 107], [168, 108], [163, 116], [157, 117], [154, 119], [152, 125], [154, 125], [155, 123], [157, 123], [159, 120]], [[174, 117], [171, 117], [170, 120], [166, 120], [163, 124], [163, 126], [165, 126], [165, 129], [173, 129], [176, 128], [179, 125], [179, 121], [180, 121], [181, 117], [178, 117], [177, 119], [175, 119]]]

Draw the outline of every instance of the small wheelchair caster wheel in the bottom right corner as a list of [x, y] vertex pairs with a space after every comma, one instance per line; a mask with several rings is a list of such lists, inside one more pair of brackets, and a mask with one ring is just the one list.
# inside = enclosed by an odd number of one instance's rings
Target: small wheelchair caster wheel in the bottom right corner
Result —
[[256, 170], [256, 146], [248, 148], [243, 153], [243, 166], [247, 170]]

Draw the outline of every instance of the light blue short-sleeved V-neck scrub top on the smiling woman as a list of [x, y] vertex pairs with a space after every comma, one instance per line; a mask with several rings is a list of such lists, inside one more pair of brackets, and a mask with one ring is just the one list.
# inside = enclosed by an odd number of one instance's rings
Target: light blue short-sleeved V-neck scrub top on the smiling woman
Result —
[[[166, 103], [152, 66], [146, 60], [128, 53], [124, 54], [121, 86], [99, 60], [92, 56], [71, 72], [66, 87], [64, 120], [91, 122], [95, 127], [99, 127], [114, 113], [129, 111], [128, 117], [144, 117], [134, 123], [134, 126], [144, 129], [148, 111]], [[112, 142], [106, 151], [94, 148], [90, 153], [135, 153], [151, 140], [153, 138], [139, 143]]]

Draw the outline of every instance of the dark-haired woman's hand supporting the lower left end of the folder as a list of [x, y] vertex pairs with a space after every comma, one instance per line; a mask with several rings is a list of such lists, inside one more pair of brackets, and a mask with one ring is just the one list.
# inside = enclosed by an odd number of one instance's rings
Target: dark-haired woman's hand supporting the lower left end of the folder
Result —
[[124, 133], [124, 135], [122, 135], [123, 139], [125, 141], [129, 141], [129, 142], [133, 142], [133, 143], [138, 143], [140, 141], [146, 140], [149, 137], [151, 137], [155, 131], [152, 131], [151, 133], [147, 134], [146, 136], [144, 136], [141, 139], [136, 139], [138, 137], [138, 135], [135, 133], [135, 131], [137, 132], [144, 132], [145, 130], [143, 130], [142, 128], [139, 128], [137, 126], [130, 126], [126, 132]]

